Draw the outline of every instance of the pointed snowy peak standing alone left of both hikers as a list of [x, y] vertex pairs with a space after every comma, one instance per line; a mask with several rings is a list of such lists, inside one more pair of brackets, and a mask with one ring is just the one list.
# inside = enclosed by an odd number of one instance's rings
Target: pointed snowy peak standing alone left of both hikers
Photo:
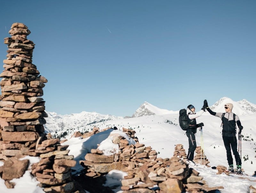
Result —
[[133, 117], [141, 117], [141, 116], [147, 116], [147, 115], [165, 115], [165, 114], [171, 114], [174, 113], [174, 111], [169, 111], [166, 109], [158, 108], [154, 105], [151, 105], [148, 102], [144, 102], [140, 107], [133, 113]]

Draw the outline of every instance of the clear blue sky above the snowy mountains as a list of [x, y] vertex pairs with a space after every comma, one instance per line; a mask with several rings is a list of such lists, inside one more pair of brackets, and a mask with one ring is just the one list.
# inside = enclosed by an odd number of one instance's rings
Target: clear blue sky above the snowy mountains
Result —
[[132, 115], [147, 101], [179, 110], [221, 97], [256, 104], [256, 1], [0, 2], [0, 58], [12, 23], [28, 26], [33, 63], [58, 114]]

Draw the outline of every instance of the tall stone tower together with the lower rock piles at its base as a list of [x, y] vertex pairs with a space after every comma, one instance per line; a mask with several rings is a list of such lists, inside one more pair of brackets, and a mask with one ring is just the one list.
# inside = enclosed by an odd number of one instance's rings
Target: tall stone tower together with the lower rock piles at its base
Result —
[[[8, 45], [4, 62], [0, 101], [0, 177], [8, 188], [13, 188], [13, 178], [21, 177], [27, 169], [41, 182], [46, 192], [72, 192], [71, 167], [76, 161], [68, 156], [68, 146], [61, 146], [59, 139], [47, 139], [44, 133], [44, 117], [47, 117], [43, 87], [47, 79], [39, 76], [32, 64], [33, 41], [27, 39], [28, 27], [14, 23], [5, 38]], [[50, 138], [50, 136], [48, 136]], [[39, 156], [39, 163], [29, 167], [29, 160], [19, 158]]]

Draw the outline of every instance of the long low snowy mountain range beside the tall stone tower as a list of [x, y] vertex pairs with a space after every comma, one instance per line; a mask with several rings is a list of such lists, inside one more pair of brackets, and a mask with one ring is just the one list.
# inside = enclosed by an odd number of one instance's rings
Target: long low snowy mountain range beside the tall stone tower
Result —
[[96, 112], [81, 112], [71, 115], [58, 115], [56, 113], [47, 112], [48, 117], [45, 118], [46, 124], [44, 129], [46, 132], [65, 131], [82, 128], [85, 125], [94, 124], [97, 122], [108, 121], [113, 119], [123, 119], [113, 115], [101, 115]]

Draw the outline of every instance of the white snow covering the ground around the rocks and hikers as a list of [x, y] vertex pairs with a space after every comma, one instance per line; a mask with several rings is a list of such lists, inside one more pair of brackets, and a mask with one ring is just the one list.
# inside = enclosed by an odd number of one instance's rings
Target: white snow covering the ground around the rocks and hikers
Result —
[[[224, 103], [233, 102], [229, 98], [222, 98], [218, 101], [218, 104], [214, 104], [215, 110], [217, 112], [224, 112]], [[253, 105], [253, 104], [250, 104]], [[222, 106], [222, 109], [219, 108]], [[197, 108], [197, 107], [196, 107]], [[201, 107], [197, 108], [199, 110]], [[213, 108], [213, 106], [212, 106]], [[230, 175], [226, 174], [216, 174], [217, 170], [207, 168], [207, 167], [194, 167], [200, 175], [204, 177], [204, 181], [209, 185], [209, 187], [223, 186], [224, 189], [220, 189], [221, 193], [230, 192], [250, 192], [249, 187], [253, 186], [256, 188], [256, 177], [252, 176], [256, 170], [256, 114], [245, 111], [246, 107], [241, 108], [239, 103], [234, 105], [233, 112], [239, 116], [244, 129], [242, 131], [242, 168], [246, 176], [240, 175]], [[152, 110], [152, 108], [151, 108]], [[159, 109], [157, 109], [159, 111]], [[159, 112], [158, 112], [159, 113]], [[139, 138], [141, 144], [146, 146], [151, 146], [152, 149], [158, 152], [158, 157], [171, 158], [173, 156], [174, 147], [176, 144], [184, 145], [186, 152], [188, 151], [188, 138], [185, 135], [185, 131], [180, 129], [179, 115], [177, 112], [170, 112], [166, 114], [166, 111], [159, 113], [159, 115], [149, 115], [141, 116], [127, 119], [115, 119], [104, 121], [100, 123], [95, 123], [91, 125], [84, 125], [83, 127], [74, 128], [69, 130], [66, 138], [68, 141], [62, 145], [69, 145], [69, 154], [75, 156], [75, 160], [84, 160], [84, 156], [87, 152], [93, 148], [97, 148], [97, 144], [100, 144], [101, 150], [106, 154], [108, 152], [114, 151], [116, 146], [111, 143], [108, 138], [111, 132], [119, 132], [121, 135], [126, 134], [122, 132], [122, 128], [132, 129], [136, 131], [135, 136]], [[210, 161], [208, 165], [211, 167], [218, 165], [223, 165], [228, 167], [226, 150], [223, 145], [221, 137], [221, 120], [218, 117], [210, 115], [205, 112], [202, 116], [198, 117], [197, 123], [204, 122], [203, 135], [199, 130], [197, 130], [196, 143], [197, 146], [204, 145], [204, 153], [207, 159]], [[108, 127], [116, 126], [118, 130], [106, 130], [97, 133], [91, 137], [82, 139], [81, 137], [70, 138], [75, 131], [92, 130], [93, 127], [99, 127], [103, 130]], [[127, 136], [128, 137], [128, 136]], [[201, 144], [201, 137], [203, 138], [203, 144]], [[129, 139], [132, 143], [132, 139]], [[38, 161], [38, 158], [27, 156], [31, 164]], [[234, 159], [234, 156], [233, 156]], [[235, 165], [234, 159], [234, 165]], [[3, 162], [0, 161], [0, 166]], [[83, 169], [79, 164], [73, 169], [79, 172]], [[105, 186], [112, 187], [113, 184], [117, 185], [115, 188], [116, 192], [121, 192], [121, 179], [126, 175], [124, 172], [113, 170], [107, 175], [107, 182]], [[36, 186], [38, 183], [34, 177], [27, 171], [21, 178], [14, 179], [11, 182], [15, 182], [16, 186], [14, 189], [7, 189], [4, 185], [4, 180], [0, 179], [0, 192], [19, 192], [19, 193], [42, 193], [43, 190]], [[120, 185], [120, 186], [118, 186]]]

